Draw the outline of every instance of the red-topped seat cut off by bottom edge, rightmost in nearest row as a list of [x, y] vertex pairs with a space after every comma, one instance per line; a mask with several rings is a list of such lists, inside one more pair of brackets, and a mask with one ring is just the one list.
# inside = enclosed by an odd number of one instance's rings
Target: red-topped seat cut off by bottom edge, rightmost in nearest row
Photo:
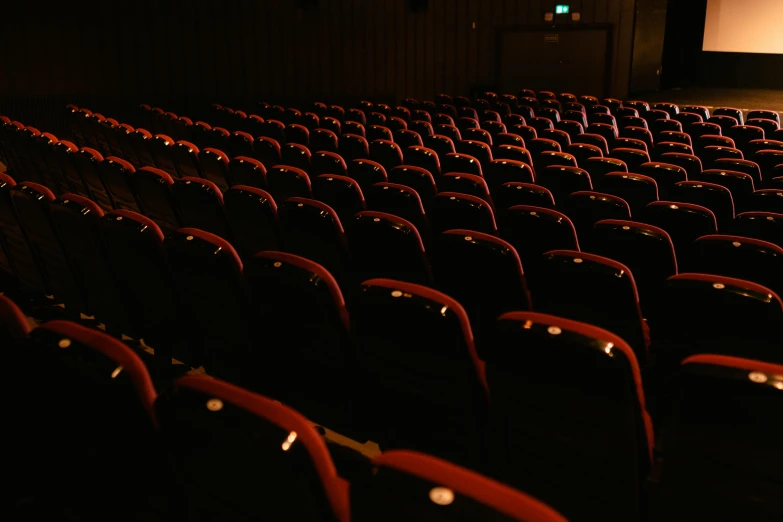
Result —
[[388, 451], [373, 464], [375, 473], [351, 484], [351, 516], [356, 522], [424, 522], [444, 516], [565, 522], [538, 500], [436, 457]]

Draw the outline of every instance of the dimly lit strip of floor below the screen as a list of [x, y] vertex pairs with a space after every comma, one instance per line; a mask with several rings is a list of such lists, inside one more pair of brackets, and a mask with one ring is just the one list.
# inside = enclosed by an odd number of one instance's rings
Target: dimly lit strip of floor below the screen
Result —
[[637, 93], [631, 98], [649, 102], [672, 102], [678, 105], [736, 107], [749, 110], [778, 111], [783, 115], [783, 91], [772, 89], [711, 89], [688, 87], [657, 92]]

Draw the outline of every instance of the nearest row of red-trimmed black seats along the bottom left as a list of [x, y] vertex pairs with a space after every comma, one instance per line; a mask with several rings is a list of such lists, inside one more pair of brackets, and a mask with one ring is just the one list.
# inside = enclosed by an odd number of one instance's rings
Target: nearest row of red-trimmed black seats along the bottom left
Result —
[[[17, 363], [17, 391], [33, 391], [23, 395], [30, 403], [43, 399], [34, 412], [27, 401], [14, 409], [13, 420], [24, 422], [15, 450], [23, 451], [6, 471], [45, 463], [33, 494], [42, 503], [64, 503], [79, 519], [97, 520], [120, 505], [118, 520], [149, 516], [145, 510], [156, 507], [172, 520], [186, 513], [188, 520], [565, 522], [526, 494], [412, 451], [377, 457], [375, 471], [349, 488], [324, 439], [295, 410], [207, 376], [179, 378], [159, 394], [123, 343], [67, 321], [31, 331], [3, 296], [0, 338]], [[24, 435], [55, 425], [69, 426], [58, 430], [57, 444], [25, 442]], [[117, 453], [122, 466], [101, 462]], [[69, 480], [73, 466], [80, 469], [76, 483]], [[147, 504], [145, 489], [152, 487], [171, 505]]]

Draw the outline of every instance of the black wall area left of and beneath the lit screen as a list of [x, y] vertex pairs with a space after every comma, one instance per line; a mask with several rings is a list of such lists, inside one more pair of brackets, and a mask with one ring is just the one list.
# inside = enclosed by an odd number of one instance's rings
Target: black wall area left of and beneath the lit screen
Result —
[[702, 51], [707, 0], [669, 0], [664, 88], [702, 86], [783, 89], [783, 55]]

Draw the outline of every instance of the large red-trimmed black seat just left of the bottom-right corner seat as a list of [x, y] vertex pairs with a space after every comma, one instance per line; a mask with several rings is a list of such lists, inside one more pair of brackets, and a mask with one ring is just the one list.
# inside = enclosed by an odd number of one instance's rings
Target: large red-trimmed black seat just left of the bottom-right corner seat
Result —
[[512, 312], [480, 356], [498, 430], [495, 476], [571, 520], [639, 519], [654, 441], [628, 343], [589, 324]]

